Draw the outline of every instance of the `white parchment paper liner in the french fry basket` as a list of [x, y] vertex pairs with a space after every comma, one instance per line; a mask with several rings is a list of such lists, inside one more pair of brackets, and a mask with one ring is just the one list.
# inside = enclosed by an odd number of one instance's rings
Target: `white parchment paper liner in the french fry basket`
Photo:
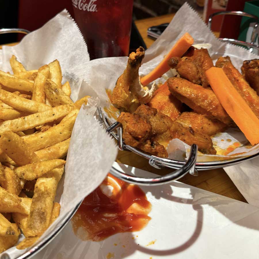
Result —
[[[27, 70], [38, 69], [58, 59], [63, 73], [62, 83], [69, 81], [71, 84], [73, 100], [92, 94], [85, 89], [82, 78], [76, 75], [89, 62], [89, 54], [77, 25], [66, 10], [42, 28], [26, 35], [20, 44], [14, 47], [4, 46], [2, 54], [2, 70], [9, 72], [12, 72], [9, 59], [13, 54]], [[60, 180], [57, 190], [56, 201], [61, 203], [60, 216], [37, 243], [102, 182], [116, 159], [117, 147], [114, 140], [93, 117], [96, 106], [97, 100], [90, 100], [77, 116], [66, 160], [65, 176]], [[16, 258], [24, 250], [12, 247], [5, 253]]]

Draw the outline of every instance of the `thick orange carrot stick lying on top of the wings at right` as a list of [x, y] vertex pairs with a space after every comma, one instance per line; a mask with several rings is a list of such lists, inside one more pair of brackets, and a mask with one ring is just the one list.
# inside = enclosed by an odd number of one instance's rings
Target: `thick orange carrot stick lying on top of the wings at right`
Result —
[[252, 145], [259, 143], [259, 119], [229, 81], [223, 69], [212, 67], [205, 73], [213, 92], [228, 115]]

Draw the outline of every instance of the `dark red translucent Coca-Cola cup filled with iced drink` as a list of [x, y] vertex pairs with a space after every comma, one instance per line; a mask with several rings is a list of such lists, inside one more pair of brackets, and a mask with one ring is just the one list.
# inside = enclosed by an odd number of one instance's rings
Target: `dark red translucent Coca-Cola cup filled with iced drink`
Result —
[[133, 0], [72, 0], [90, 59], [127, 56]]

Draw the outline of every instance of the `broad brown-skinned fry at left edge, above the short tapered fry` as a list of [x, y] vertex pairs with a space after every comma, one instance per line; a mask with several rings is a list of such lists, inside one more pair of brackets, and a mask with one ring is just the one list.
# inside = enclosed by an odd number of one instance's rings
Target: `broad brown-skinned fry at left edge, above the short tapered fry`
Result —
[[39, 161], [39, 158], [29, 145], [12, 131], [6, 131], [1, 135], [0, 148], [17, 165], [26, 165]]

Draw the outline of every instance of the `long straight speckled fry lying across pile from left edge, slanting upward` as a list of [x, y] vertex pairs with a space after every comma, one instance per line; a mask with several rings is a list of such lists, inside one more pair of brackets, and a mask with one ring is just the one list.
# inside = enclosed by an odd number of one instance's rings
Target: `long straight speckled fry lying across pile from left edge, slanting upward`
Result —
[[14, 120], [3, 121], [0, 123], [0, 134], [7, 130], [18, 132], [32, 129], [38, 125], [44, 125], [45, 123], [66, 116], [71, 110], [73, 110], [73, 106], [60, 105], [54, 108], [49, 108], [47, 111], [34, 113]]

